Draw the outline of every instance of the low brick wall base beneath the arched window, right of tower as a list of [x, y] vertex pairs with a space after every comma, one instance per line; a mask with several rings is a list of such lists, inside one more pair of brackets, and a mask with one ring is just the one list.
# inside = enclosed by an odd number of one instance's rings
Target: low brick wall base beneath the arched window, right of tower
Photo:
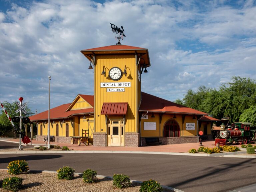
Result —
[[[181, 144], [181, 143], [197, 143], [198, 137], [159, 137], [159, 141], [162, 141], [163, 145], [169, 144]], [[146, 139], [142, 138], [142, 146], [146, 146]]]

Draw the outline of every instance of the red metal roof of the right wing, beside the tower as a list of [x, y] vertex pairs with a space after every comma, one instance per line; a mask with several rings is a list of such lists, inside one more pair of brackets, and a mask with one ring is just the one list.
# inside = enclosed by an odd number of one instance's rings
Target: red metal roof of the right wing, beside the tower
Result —
[[157, 96], [146, 94], [142, 92], [142, 102], [139, 108], [140, 111], [152, 111], [152, 112], [171, 112], [182, 114], [196, 114], [196, 115], [208, 115], [205, 112], [198, 111]]

